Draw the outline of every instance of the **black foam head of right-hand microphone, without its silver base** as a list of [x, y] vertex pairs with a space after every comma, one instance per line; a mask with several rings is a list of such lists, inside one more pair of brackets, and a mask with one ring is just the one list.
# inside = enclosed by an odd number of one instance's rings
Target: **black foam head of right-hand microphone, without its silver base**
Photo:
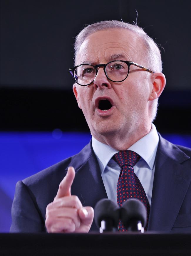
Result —
[[120, 219], [126, 229], [129, 227], [132, 219], [141, 221], [142, 226], [145, 227], [147, 223], [147, 210], [140, 200], [130, 198], [121, 206]]

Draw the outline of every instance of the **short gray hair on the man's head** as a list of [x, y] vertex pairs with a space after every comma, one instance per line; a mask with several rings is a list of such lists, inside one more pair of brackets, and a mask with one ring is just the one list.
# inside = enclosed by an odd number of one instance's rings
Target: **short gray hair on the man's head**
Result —
[[[85, 27], [76, 37], [75, 44], [74, 44], [74, 58], [76, 62], [76, 56], [82, 45], [83, 41], [89, 35], [100, 31], [100, 30], [107, 30], [112, 28], [121, 28], [121, 29], [128, 29], [138, 35], [143, 42], [143, 45], [147, 49], [147, 57], [148, 57], [148, 68], [153, 70], [154, 72], [162, 72], [162, 61], [160, 50], [157, 44], [153, 41], [151, 37], [149, 37], [145, 31], [138, 27], [136, 24], [129, 24], [125, 22], [121, 22], [118, 20], [109, 20], [109, 21], [101, 21], [97, 23], [93, 23]], [[151, 119], [154, 120], [157, 115], [157, 108], [158, 108], [158, 99], [153, 100], [151, 104]]]

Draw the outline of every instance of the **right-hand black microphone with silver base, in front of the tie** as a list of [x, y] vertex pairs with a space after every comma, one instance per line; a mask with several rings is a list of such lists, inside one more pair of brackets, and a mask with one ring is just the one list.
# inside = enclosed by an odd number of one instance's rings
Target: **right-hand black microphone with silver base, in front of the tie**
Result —
[[121, 206], [120, 219], [128, 231], [144, 233], [144, 227], [147, 223], [147, 210], [140, 200], [130, 198]]

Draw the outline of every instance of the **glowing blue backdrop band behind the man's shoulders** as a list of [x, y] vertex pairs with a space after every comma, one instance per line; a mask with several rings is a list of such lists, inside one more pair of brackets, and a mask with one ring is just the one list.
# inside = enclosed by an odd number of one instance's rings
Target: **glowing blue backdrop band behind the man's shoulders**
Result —
[[[174, 144], [191, 147], [191, 135], [163, 134]], [[11, 204], [18, 180], [78, 153], [90, 133], [0, 132], [0, 232], [9, 232]]]

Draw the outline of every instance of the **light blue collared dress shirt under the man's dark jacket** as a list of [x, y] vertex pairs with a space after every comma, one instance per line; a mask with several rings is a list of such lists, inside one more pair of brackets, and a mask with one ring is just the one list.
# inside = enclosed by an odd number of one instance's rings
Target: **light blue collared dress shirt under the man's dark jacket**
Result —
[[[134, 166], [134, 172], [139, 178], [149, 203], [153, 190], [153, 179], [155, 173], [155, 156], [158, 147], [159, 136], [154, 124], [150, 132], [143, 138], [135, 142], [127, 150], [132, 150], [141, 156], [140, 160]], [[116, 149], [101, 143], [92, 137], [92, 147], [101, 170], [101, 177], [107, 196], [113, 202], [117, 202], [117, 182], [120, 174], [119, 165], [112, 159], [116, 154]]]

